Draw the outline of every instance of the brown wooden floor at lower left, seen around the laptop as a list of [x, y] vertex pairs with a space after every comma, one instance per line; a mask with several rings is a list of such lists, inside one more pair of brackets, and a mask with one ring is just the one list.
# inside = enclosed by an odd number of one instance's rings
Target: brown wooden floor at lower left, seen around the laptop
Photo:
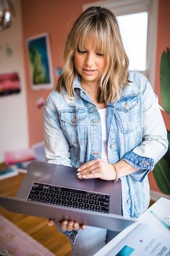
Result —
[[[0, 180], [0, 194], [15, 196], [24, 174]], [[29, 236], [33, 237], [40, 244], [43, 244], [48, 250], [57, 256], [71, 256], [71, 246], [66, 236], [61, 234], [57, 228], [49, 227], [48, 220], [44, 218], [25, 216], [6, 211], [0, 206], [0, 214], [21, 228]]]

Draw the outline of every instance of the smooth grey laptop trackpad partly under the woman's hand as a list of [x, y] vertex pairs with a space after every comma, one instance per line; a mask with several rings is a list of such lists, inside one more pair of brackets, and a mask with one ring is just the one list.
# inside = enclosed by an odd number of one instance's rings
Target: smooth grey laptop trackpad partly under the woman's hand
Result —
[[51, 183], [54, 185], [56, 184], [60, 186], [66, 186], [69, 188], [94, 191], [94, 179], [80, 180], [76, 176], [76, 173], [76, 168], [57, 165], [55, 171], [53, 172]]

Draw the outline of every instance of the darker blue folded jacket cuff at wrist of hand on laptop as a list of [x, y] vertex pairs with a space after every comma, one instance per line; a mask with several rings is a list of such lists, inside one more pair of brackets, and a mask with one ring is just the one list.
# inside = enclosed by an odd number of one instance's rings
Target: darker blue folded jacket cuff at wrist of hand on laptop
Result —
[[153, 170], [153, 159], [148, 157], [139, 156], [138, 154], [129, 151], [123, 157], [122, 160], [131, 164], [131, 166], [138, 168], [138, 171], [131, 173], [131, 177], [137, 179], [139, 182], [143, 182], [146, 175], [150, 170]]

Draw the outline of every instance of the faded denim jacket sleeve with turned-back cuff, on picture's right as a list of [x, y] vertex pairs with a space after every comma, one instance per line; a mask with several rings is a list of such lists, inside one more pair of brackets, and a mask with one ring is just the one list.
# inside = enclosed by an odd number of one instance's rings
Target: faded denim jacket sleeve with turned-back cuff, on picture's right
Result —
[[127, 163], [139, 169], [131, 175], [141, 182], [166, 154], [168, 147], [166, 126], [160, 112], [158, 98], [148, 80], [144, 86], [142, 102], [143, 140], [138, 147], [122, 157]]

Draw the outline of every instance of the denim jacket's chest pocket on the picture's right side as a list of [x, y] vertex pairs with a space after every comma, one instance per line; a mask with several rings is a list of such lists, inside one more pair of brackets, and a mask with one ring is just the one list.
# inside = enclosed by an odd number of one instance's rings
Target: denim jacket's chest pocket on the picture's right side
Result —
[[115, 116], [122, 133], [135, 131], [141, 124], [138, 96], [120, 99], [117, 102]]

